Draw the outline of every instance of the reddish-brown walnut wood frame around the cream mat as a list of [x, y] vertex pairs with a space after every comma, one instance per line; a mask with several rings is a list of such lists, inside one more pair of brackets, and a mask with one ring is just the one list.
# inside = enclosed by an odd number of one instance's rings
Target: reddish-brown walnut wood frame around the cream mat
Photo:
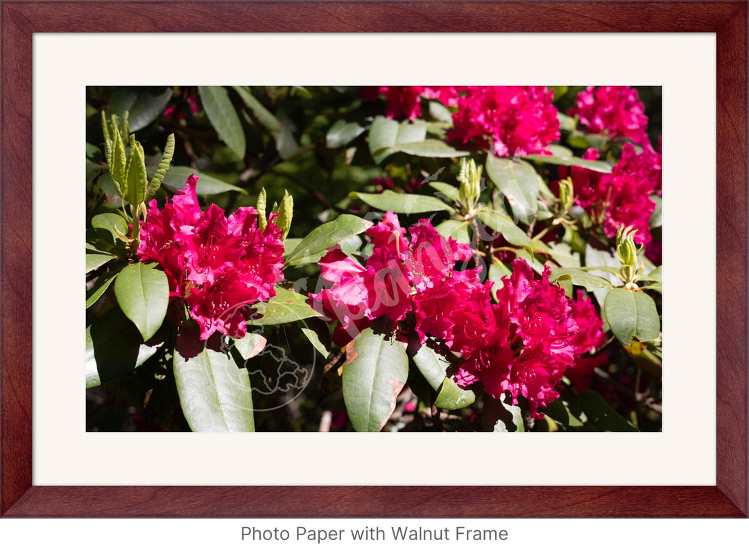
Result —
[[[1, 1], [0, 515], [712, 517], [748, 515], [747, 2]], [[716, 486], [33, 486], [31, 34], [702, 32], [718, 43]], [[723, 349], [722, 346], [727, 346]]]

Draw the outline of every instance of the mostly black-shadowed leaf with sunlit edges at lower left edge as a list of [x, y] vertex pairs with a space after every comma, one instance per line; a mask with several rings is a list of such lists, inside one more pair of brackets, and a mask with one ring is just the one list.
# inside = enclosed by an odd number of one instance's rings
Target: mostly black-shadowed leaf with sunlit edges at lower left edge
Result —
[[107, 311], [86, 329], [86, 388], [132, 372], [157, 349], [141, 343], [138, 329], [122, 311]]

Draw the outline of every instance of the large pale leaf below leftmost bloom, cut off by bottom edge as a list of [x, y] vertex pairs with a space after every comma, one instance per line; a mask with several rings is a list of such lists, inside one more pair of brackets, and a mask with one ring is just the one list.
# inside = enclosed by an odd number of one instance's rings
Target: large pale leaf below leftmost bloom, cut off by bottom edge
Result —
[[230, 355], [204, 347], [184, 358], [174, 352], [182, 412], [196, 433], [252, 433], [255, 418], [249, 373]]

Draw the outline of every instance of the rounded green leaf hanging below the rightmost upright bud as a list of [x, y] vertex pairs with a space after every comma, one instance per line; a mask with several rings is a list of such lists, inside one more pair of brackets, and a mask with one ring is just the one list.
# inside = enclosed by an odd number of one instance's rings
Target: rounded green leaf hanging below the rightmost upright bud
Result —
[[611, 332], [625, 346], [633, 337], [646, 342], [661, 332], [658, 309], [647, 293], [615, 288], [606, 295], [604, 314]]

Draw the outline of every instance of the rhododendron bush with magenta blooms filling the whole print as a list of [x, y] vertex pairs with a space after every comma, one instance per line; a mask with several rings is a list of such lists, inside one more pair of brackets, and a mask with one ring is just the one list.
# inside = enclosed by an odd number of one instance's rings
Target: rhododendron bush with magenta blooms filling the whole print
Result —
[[90, 87], [87, 430], [661, 430], [661, 98]]

